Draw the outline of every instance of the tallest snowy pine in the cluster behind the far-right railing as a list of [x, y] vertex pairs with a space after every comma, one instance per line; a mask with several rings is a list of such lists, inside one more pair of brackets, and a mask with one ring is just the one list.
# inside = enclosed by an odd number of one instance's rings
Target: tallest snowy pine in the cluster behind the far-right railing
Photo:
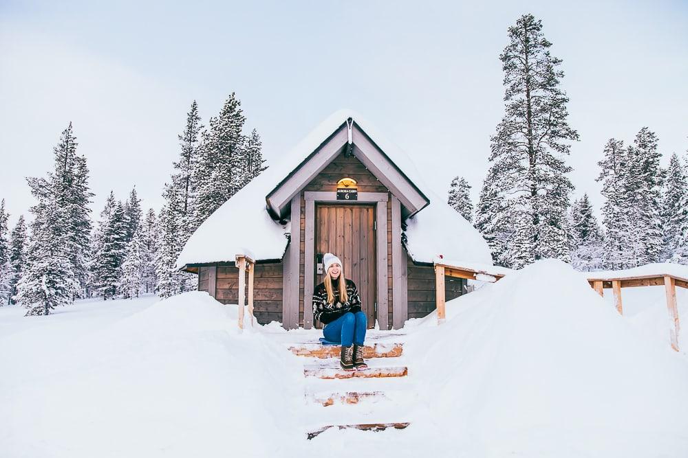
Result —
[[643, 127], [626, 153], [625, 194], [631, 222], [642, 246], [636, 265], [658, 262], [663, 252], [660, 205], [665, 170], [660, 167], [657, 145], [654, 132]]

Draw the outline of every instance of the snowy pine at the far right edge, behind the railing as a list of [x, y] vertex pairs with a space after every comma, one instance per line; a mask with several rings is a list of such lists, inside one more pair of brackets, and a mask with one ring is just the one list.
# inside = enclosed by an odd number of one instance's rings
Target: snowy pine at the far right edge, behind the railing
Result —
[[671, 154], [662, 202], [663, 260], [688, 264], [688, 177], [678, 154]]

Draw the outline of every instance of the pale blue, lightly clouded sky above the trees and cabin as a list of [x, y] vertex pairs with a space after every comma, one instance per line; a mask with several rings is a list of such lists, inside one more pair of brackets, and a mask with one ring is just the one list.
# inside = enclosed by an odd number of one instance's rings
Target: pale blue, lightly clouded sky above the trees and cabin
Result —
[[499, 54], [521, 14], [542, 20], [581, 139], [574, 198], [603, 203], [597, 162], [643, 126], [666, 165], [688, 150], [687, 1], [0, 0], [0, 199], [13, 224], [69, 122], [87, 157], [97, 218], [113, 190], [162, 205], [191, 102], [204, 124], [235, 92], [264, 155], [279, 158], [352, 108], [445, 196], [488, 168], [504, 115]]

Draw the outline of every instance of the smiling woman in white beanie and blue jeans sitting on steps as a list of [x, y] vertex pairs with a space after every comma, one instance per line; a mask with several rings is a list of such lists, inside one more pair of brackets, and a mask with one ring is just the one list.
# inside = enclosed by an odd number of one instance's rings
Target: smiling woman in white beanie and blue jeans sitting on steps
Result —
[[325, 281], [313, 292], [313, 317], [325, 325], [323, 334], [331, 342], [341, 343], [339, 363], [345, 371], [368, 367], [363, 362], [363, 341], [367, 319], [361, 311], [356, 284], [344, 278], [341, 260], [325, 253]]

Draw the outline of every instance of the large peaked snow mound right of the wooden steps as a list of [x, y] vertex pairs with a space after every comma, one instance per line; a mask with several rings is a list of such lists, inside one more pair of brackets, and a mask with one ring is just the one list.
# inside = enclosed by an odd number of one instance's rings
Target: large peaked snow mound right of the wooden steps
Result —
[[405, 350], [422, 361], [416, 433], [438, 429], [440, 455], [688, 456], [685, 359], [570, 266], [536, 262], [450, 301], [447, 318], [424, 319]]

